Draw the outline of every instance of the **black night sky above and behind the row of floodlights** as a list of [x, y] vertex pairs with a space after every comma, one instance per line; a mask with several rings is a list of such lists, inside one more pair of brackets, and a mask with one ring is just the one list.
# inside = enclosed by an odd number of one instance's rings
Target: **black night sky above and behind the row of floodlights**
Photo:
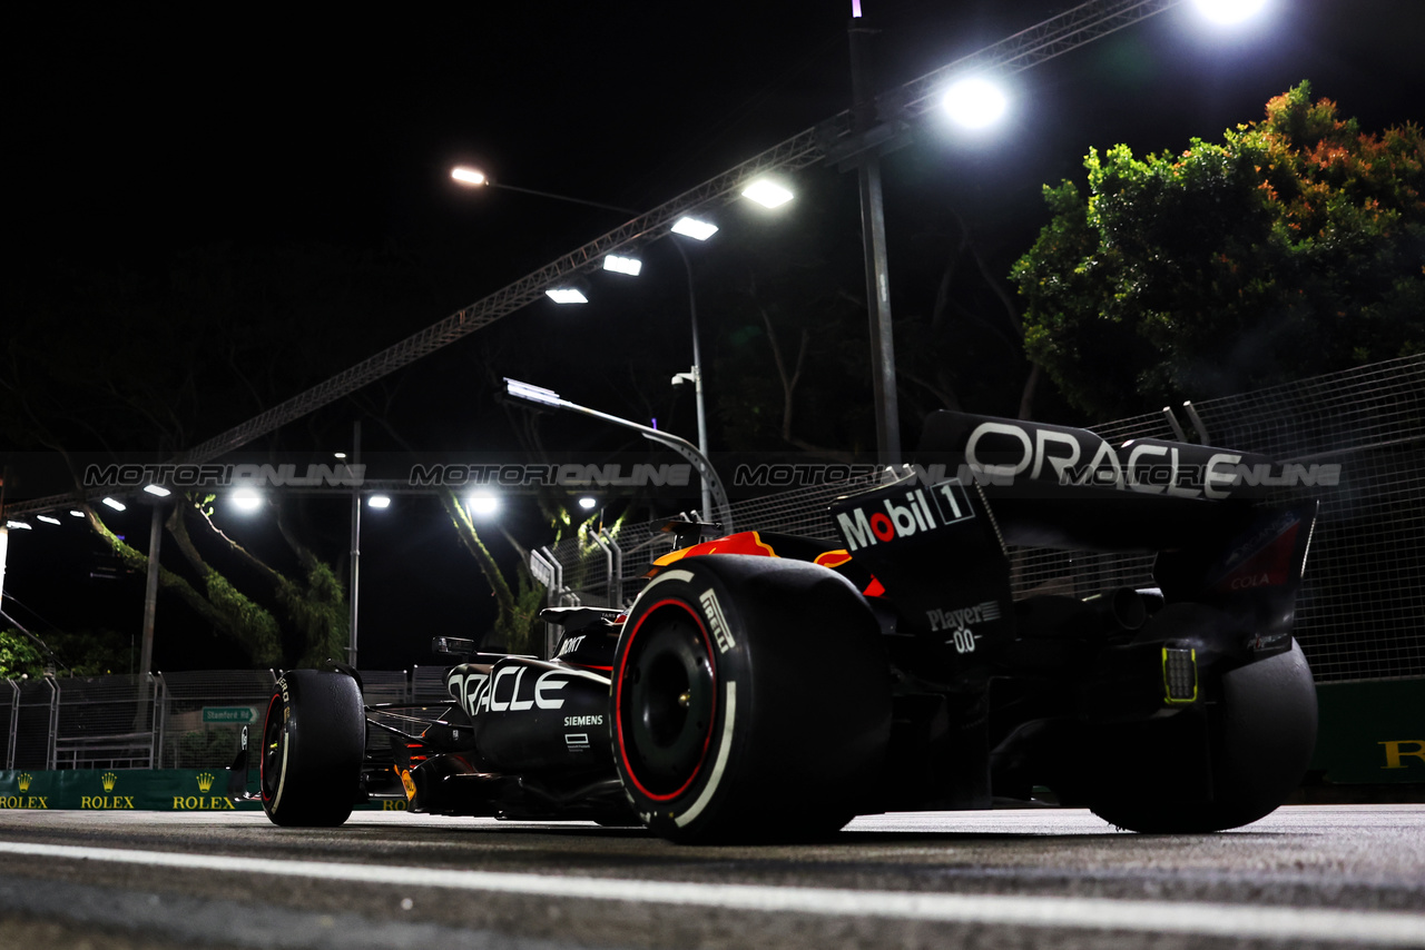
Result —
[[[527, 195], [462, 191], [447, 178], [453, 164], [479, 164], [510, 185], [644, 209], [849, 105], [845, 0], [503, 6], [329, 19], [248, 9], [28, 13], [9, 30], [6, 56], [6, 221], [10, 244], [21, 245], [11, 266], [162, 275], [172, 255], [214, 245], [396, 249], [418, 262], [419, 293], [333, 343], [355, 362], [623, 221]], [[876, 87], [1069, 6], [864, 0], [882, 30]], [[1301, 80], [1367, 130], [1419, 122], [1422, 38], [1418, 0], [1274, 0], [1235, 33], [1203, 26], [1184, 4], [1019, 74], [1010, 117], [993, 132], [932, 124], [886, 158], [893, 310], [933, 293], [935, 262], [916, 258], [911, 235], [926, 205], [953, 207], [1007, 271], [1046, 221], [1042, 185], [1082, 181], [1090, 147], [1159, 151], [1217, 138], [1260, 118], [1270, 97]], [[817, 169], [805, 187], [838, 204], [846, 239], [858, 241], [855, 177]], [[798, 211], [789, 208], [775, 226], [795, 239]], [[727, 212], [721, 236], [738, 234], [735, 214]], [[710, 265], [717, 248], [695, 254], [697, 266]], [[667, 372], [687, 369], [690, 357], [678, 352], [685, 333], [650, 326], [656, 313], [681, 313], [678, 292], [677, 281], [656, 273], [640, 291], [606, 289], [577, 325], [537, 303], [506, 318], [512, 328], [500, 328], [500, 339], [547, 350], [549, 376], [530, 382], [634, 414], [598, 366], [646, 348], [658, 372], [663, 363]], [[624, 296], [610, 301], [616, 293]], [[469, 360], [493, 345], [467, 338], [399, 380], [400, 412], [422, 447], [499, 444], [503, 410], [465, 376]], [[271, 382], [289, 396], [312, 380], [286, 389], [286, 380]], [[688, 400], [670, 396], [668, 406], [674, 414], [664, 423], [690, 432]], [[316, 439], [326, 443], [315, 447], [341, 442], [333, 433], [349, 432], [355, 414], [328, 412]], [[202, 437], [234, 422], [241, 419], [215, 414]], [[302, 443], [301, 433], [284, 439], [286, 449]], [[379, 434], [370, 439], [382, 444]], [[440, 516], [422, 517], [426, 527], [406, 518], [389, 536], [380, 534], [389, 526], [368, 518], [362, 631], [373, 665], [428, 662], [419, 648], [428, 634], [469, 634], [486, 610], [486, 591]], [[341, 516], [332, 520], [339, 538]], [[516, 527], [537, 533], [537, 524]], [[142, 538], [145, 518], [127, 530]], [[6, 583], [41, 618], [34, 622], [88, 624], [71, 611], [78, 602], [111, 628], [137, 630], [141, 584], [88, 581], [87, 567], [36, 571], [68, 550], [37, 541], [11, 541]], [[375, 551], [390, 554], [385, 567]], [[436, 567], [383, 585], [416, 557]], [[41, 581], [66, 571], [84, 597]], [[165, 648], [160, 635], [158, 665], [232, 662], [212, 647]]]

